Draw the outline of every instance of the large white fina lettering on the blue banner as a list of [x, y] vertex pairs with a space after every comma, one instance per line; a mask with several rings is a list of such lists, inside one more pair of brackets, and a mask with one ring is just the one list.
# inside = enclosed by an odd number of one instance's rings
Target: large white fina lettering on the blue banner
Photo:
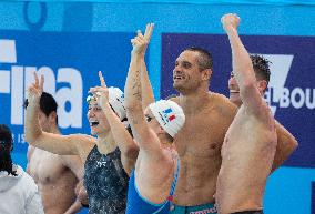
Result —
[[[44, 75], [44, 91], [58, 102], [60, 128], [82, 128], [82, 77], [73, 68], [59, 68], [57, 77], [50, 67], [17, 65], [16, 40], [0, 39], [0, 63], [11, 63], [10, 70], [0, 70], [0, 94], [11, 94], [11, 124], [23, 125], [23, 101], [33, 72]], [[57, 91], [57, 83], [67, 83]], [[69, 110], [70, 109], [70, 110]]]

